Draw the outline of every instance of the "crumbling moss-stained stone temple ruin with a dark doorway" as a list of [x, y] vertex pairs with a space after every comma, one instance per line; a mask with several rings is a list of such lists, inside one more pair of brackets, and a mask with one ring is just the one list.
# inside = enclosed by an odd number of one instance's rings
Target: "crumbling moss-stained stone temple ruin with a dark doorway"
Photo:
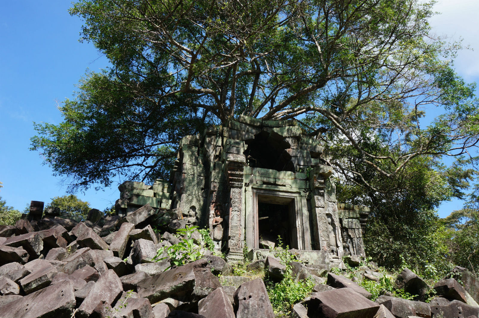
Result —
[[279, 245], [318, 262], [365, 256], [365, 206], [340, 204], [320, 141], [296, 120], [239, 116], [203, 135], [185, 136], [170, 180], [125, 182], [116, 211], [145, 204], [176, 212], [184, 227], [208, 227], [215, 249], [230, 261], [251, 259]]

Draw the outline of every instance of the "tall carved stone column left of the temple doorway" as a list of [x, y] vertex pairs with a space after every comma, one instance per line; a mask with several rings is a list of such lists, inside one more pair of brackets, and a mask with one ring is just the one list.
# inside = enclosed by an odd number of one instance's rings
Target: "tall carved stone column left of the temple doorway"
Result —
[[243, 212], [243, 169], [244, 155], [228, 154], [226, 158], [229, 187], [229, 226], [228, 226], [228, 261], [242, 262], [244, 247], [244, 212]]

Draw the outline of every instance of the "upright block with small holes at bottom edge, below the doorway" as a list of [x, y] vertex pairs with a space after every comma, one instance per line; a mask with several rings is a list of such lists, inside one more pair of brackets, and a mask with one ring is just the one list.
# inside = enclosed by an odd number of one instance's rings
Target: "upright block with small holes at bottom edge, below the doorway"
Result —
[[241, 284], [235, 292], [234, 301], [236, 318], [274, 318], [266, 286], [260, 278]]

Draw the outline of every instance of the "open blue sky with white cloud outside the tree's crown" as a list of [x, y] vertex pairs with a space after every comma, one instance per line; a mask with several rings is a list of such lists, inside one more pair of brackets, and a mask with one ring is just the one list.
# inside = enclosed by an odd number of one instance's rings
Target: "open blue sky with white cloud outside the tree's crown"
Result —
[[[87, 68], [96, 71], [107, 65], [93, 45], [78, 42], [82, 23], [68, 14], [69, 7], [69, 1], [59, 0], [0, 4], [0, 196], [19, 210], [31, 200], [48, 203], [67, 188], [42, 165], [38, 152], [28, 150], [35, 135], [32, 122], [61, 122], [57, 102], [72, 97]], [[440, 0], [435, 9], [443, 12], [431, 20], [437, 34], [462, 37], [479, 49], [479, 2]], [[478, 51], [460, 52], [456, 70], [467, 81], [479, 81]], [[76, 194], [103, 209], [119, 198], [116, 186]], [[439, 215], [461, 207], [458, 200], [445, 203]]]

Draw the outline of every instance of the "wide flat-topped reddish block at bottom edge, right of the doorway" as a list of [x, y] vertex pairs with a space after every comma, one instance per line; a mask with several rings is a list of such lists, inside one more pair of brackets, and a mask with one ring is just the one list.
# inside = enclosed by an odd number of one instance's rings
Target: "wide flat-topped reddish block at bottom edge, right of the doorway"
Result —
[[310, 318], [373, 317], [379, 305], [351, 288], [314, 293], [308, 304]]

